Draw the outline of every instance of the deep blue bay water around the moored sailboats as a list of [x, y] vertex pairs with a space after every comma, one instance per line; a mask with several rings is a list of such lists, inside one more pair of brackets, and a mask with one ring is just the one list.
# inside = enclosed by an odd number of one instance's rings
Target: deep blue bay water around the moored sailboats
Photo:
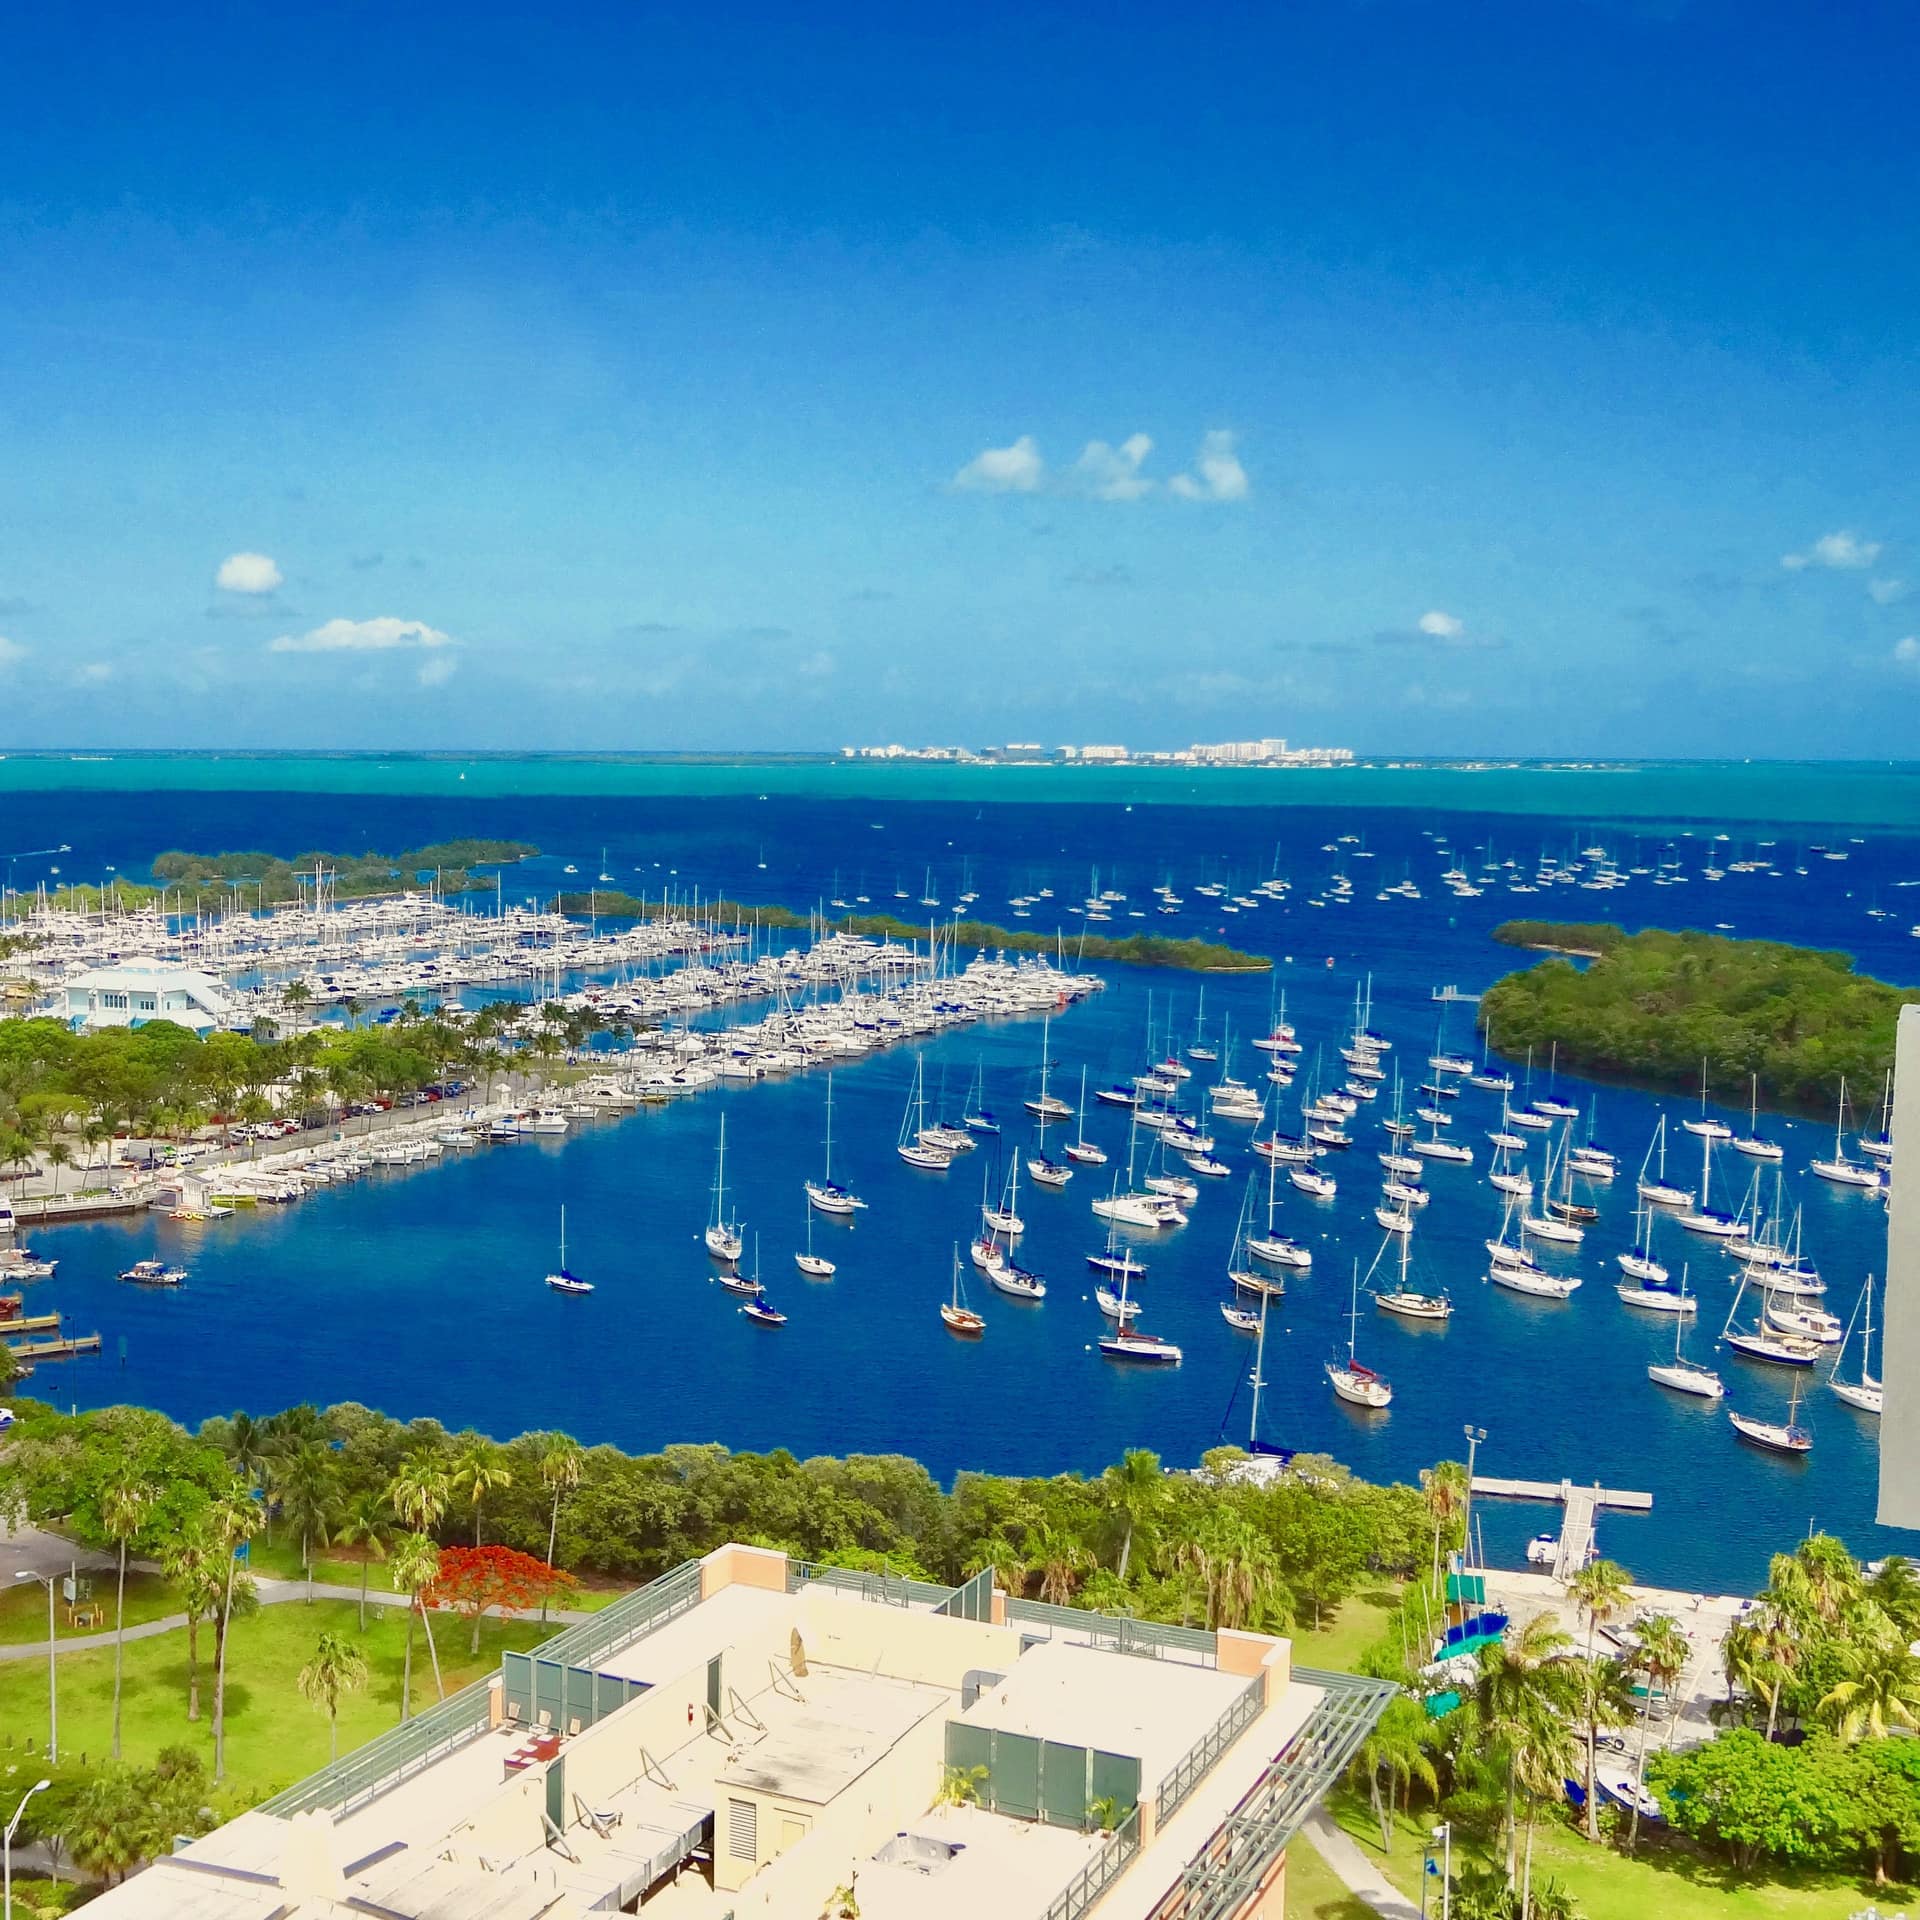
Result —
[[[1359, 860], [1348, 849], [1344, 856], [1357, 904], [1304, 904], [1336, 860], [1321, 849], [1346, 831], [1363, 833], [1373, 854]], [[1703, 881], [1713, 831], [1732, 835], [1715, 849], [1722, 862], [1778, 841], [1766, 852], [1786, 872]], [[1860, 839], [1851, 841], [1849, 831]], [[1822, 835], [1716, 822], [1684, 837], [1684, 822], [1668, 835], [1644, 822], [1611, 828], [1603, 818], [1396, 808], [1356, 816], [1319, 804], [1129, 810], [1123, 803], [1073, 801], [760, 801], [755, 791], [488, 799], [40, 791], [0, 799], [0, 858], [61, 841], [73, 849], [58, 860], [17, 862], [21, 885], [56, 864], [67, 877], [98, 877], [108, 864], [132, 876], [165, 847], [259, 845], [292, 854], [457, 833], [524, 837], [547, 849], [509, 877], [509, 895], [551, 891], [568, 860], [582, 876], [595, 874], [603, 847], [612, 872], [647, 891], [678, 870], [680, 885], [810, 906], [833, 891], [837, 874], [845, 899], [868, 893], [876, 908], [902, 916], [920, 912], [929, 868], [943, 900], [972, 877], [981, 893], [973, 912], [1000, 920], [1010, 914], [1008, 895], [1039, 885], [1054, 887], [1056, 906], [1079, 899], [1092, 868], [1102, 887], [1125, 889], [1135, 906], [1152, 906], [1148, 889], [1171, 879], [1187, 899], [1181, 916], [1127, 920], [1121, 908], [1100, 931], [1206, 931], [1275, 954], [1271, 981], [1206, 981], [1210, 1037], [1217, 1039], [1223, 1016], [1240, 1033], [1258, 1031], [1269, 993], [1284, 989], [1309, 1054], [1325, 1043], [1331, 1064], [1356, 983], [1371, 972], [1373, 1023], [1396, 1043], [1390, 1064], [1423, 1068], [1434, 1039], [1430, 989], [1446, 981], [1475, 989], [1505, 972], [1513, 956], [1494, 947], [1486, 929], [1521, 914], [1594, 918], [1605, 910], [1630, 924], [1730, 924], [1738, 933], [1845, 947], [1885, 977], [1916, 972], [1908, 925], [1920, 916], [1920, 889], [1908, 893], [1901, 883], [1920, 877], [1920, 841], [1862, 828]], [[1463, 854], [1490, 843], [1526, 864], [1542, 845], [1571, 852], [1594, 839], [1613, 847], [1622, 864], [1651, 864], [1670, 841], [1693, 879], [1672, 889], [1640, 879], [1622, 893], [1488, 891], [1455, 900], [1438, 887], [1448, 860], [1432, 833]], [[1824, 860], [1811, 851], [1816, 841], [1849, 858]], [[1263, 904], [1225, 918], [1194, 893], [1213, 877], [1244, 887], [1275, 862], [1296, 883], [1284, 908]], [[1795, 864], [1807, 866], [1805, 877], [1791, 872]], [[1379, 885], [1407, 872], [1425, 887], [1423, 900], [1373, 899]], [[897, 881], [910, 902], [893, 900]], [[1870, 908], [1891, 918], [1872, 918]], [[1037, 910], [1031, 925], [1048, 924], [1044, 908]], [[1150, 996], [1156, 1023], [1171, 1012], [1183, 1039], [1192, 1027], [1198, 975], [1104, 972], [1108, 991], [1054, 1025], [1056, 1089], [1071, 1092], [1081, 1064], [1094, 1085], [1137, 1071]], [[1448, 1037], [1469, 1043], [1467, 1010], [1453, 1010]], [[958, 1112], [975, 1062], [985, 1062], [991, 1102], [1012, 1121], [1037, 1079], [1039, 1054], [1037, 1020], [950, 1033], [927, 1048], [929, 1091], [945, 1075]], [[1240, 1050], [1244, 1077], [1254, 1079], [1260, 1064]], [[801, 1177], [818, 1164], [822, 1133], [824, 1077], [812, 1075], [716, 1091], [662, 1112], [593, 1123], [566, 1140], [490, 1148], [420, 1171], [378, 1171], [351, 1188], [205, 1229], [144, 1221], [35, 1235], [61, 1258], [60, 1277], [36, 1290], [35, 1306], [60, 1306], [69, 1325], [100, 1327], [108, 1338], [106, 1357], [46, 1365], [35, 1384], [61, 1404], [142, 1400], [188, 1421], [301, 1398], [363, 1400], [499, 1434], [551, 1425], [628, 1448], [716, 1438], [799, 1453], [899, 1450], [941, 1475], [966, 1465], [1092, 1471], [1125, 1446], [1190, 1461], [1223, 1425], [1229, 1438], [1244, 1436], [1252, 1352], [1225, 1327], [1215, 1302], [1244, 1169], [1260, 1165], [1244, 1146], [1248, 1129], [1215, 1127], [1236, 1177], [1208, 1183], [1192, 1225], [1142, 1250], [1150, 1263], [1142, 1288], [1148, 1325], [1185, 1344], [1181, 1369], [1127, 1373], [1092, 1352], [1104, 1323], [1085, 1267], [1085, 1252], [1102, 1238], [1087, 1210], [1100, 1190], [1091, 1171], [1058, 1194], [1023, 1181], [1023, 1260], [1046, 1275], [1050, 1294], [1023, 1308], [973, 1286], [989, 1331], [977, 1346], [964, 1346], [943, 1331], [935, 1302], [954, 1242], [973, 1229], [985, 1156], [970, 1156], [947, 1175], [914, 1173], [895, 1158], [912, 1068], [912, 1054], [897, 1050], [835, 1075], [835, 1169], [872, 1208], [852, 1231], [816, 1221], [816, 1244], [839, 1260], [831, 1283], [804, 1283], [791, 1265], [804, 1233]], [[1409, 1071], [1409, 1079], [1421, 1077]], [[1544, 1091], [1544, 1064], [1534, 1091]], [[1734, 1102], [1741, 1092], [1720, 1091]], [[1872, 1098], [1872, 1091], [1862, 1092]], [[1580, 1089], [1574, 1098], [1586, 1094]], [[1384, 1417], [1338, 1405], [1321, 1375], [1321, 1361], [1344, 1338], [1350, 1261], [1357, 1256], [1365, 1267], [1380, 1238], [1371, 1217], [1379, 1185], [1373, 1152], [1382, 1144], [1377, 1119], [1363, 1110], [1354, 1123], [1356, 1150], [1332, 1164], [1340, 1177], [1332, 1204], [1317, 1208], [1283, 1175], [1284, 1231], [1313, 1246], [1315, 1269], [1288, 1279], [1288, 1298], [1271, 1319], [1269, 1438], [1331, 1452], [1361, 1475], [1386, 1478], [1459, 1455], [1463, 1423], [1482, 1425], [1490, 1434], [1480, 1450], [1484, 1471], [1651, 1490], [1651, 1515], [1609, 1517], [1601, 1528], [1607, 1551], [1642, 1578], [1749, 1588], [1764, 1576], [1766, 1555], [1809, 1524], [1841, 1532], [1860, 1551], [1903, 1544], [1870, 1524], [1872, 1425], [1824, 1390], [1814, 1390], [1805, 1413], [1816, 1432], [1812, 1457], [1784, 1463], [1743, 1448], [1724, 1411], [1647, 1382], [1644, 1369], [1670, 1352], [1672, 1329], [1615, 1300], [1613, 1252], [1630, 1236], [1632, 1173], [1659, 1102], [1599, 1092], [1599, 1135], [1620, 1154], [1622, 1177], [1578, 1254], [1588, 1284], [1563, 1306], [1484, 1284], [1480, 1242], [1498, 1210], [1482, 1181], [1482, 1129], [1498, 1116], [1498, 1096], [1467, 1091], [1457, 1106], [1455, 1133], [1476, 1146], [1480, 1164], [1430, 1169], [1434, 1202], [1415, 1236], [1417, 1271], [1450, 1286], [1457, 1311], [1444, 1331], [1363, 1313], [1361, 1354], [1396, 1384]], [[1692, 1104], [1670, 1108], [1678, 1116]], [[699, 1246], [722, 1112], [730, 1179], [758, 1231], [762, 1277], [791, 1315], [778, 1332], [733, 1311], [710, 1284]], [[1743, 1110], [1738, 1119], [1745, 1119]], [[1091, 1110], [1089, 1127], [1123, 1158], [1123, 1116]], [[1826, 1304], [1845, 1317], [1860, 1277], [1882, 1267], [1885, 1215], [1874, 1202], [1807, 1175], [1811, 1154], [1832, 1142], [1830, 1127], [1772, 1121], [1770, 1129], [1788, 1142], [1789, 1192], [1807, 1208], [1807, 1248], [1830, 1283]], [[1023, 1125], [1008, 1127], [1010, 1144], [1025, 1139]], [[1690, 1137], [1682, 1140], [1692, 1146]], [[1678, 1158], [1686, 1177], [1693, 1160], [1686, 1148]], [[1730, 1179], [1745, 1171], [1743, 1164], [1728, 1165]], [[570, 1263], [599, 1283], [589, 1300], [561, 1300], [540, 1284], [553, 1261], [563, 1202]], [[1690, 1350], [1705, 1357], [1730, 1300], [1730, 1263], [1684, 1246], [1688, 1236], [1678, 1229], [1663, 1231], [1674, 1260], [1693, 1260], [1705, 1304]], [[184, 1258], [192, 1284], [173, 1296], [117, 1284], [111, 1275], [144, 1252]], [[1786, 1382], [1772, 1369], [1732, 1356], [1716, 1363], [1730, 1380], [1730, 1404], [1786, 1407]], [[1524, 1538], [1553, 1519], [1546, 1509], [1494, 1501], [1482, 1503], [1480, 1515], [1496, 1559], [1517, 1559]]]

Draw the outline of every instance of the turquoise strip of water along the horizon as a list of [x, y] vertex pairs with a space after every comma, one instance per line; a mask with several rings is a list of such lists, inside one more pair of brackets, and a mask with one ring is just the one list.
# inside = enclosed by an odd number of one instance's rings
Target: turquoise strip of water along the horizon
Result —
[[876, 803], [1409, 808], [1569, 822], [1920, 828], [1920, 764], [1620, 760], [1356, 768], [1027, 768], [841, 758], [570, 755], [6, 755], [6, 793], [399, 793], [445, 799], [737, 797]]

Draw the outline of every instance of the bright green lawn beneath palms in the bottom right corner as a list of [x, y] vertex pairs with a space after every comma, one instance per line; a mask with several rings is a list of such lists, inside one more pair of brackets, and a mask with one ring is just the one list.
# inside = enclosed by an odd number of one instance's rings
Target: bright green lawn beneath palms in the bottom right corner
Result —
[[[1327, 1811], [1402, 1893], [1419, 1901], [1421, 1849], [1432, 1828], [1428, 1811], [1396, 1822], [1394, 1851], [1384, 1857], [1363, 1793], [1340, 1788], [1329, 1795]], [[1463, 1853], [1480, 1859], [1471, 1841], [1455, 1839], [1455, 1870]], [[1866, 1878], [1847, 1874], [1741, 1878], [1726, 1862], [1678, 1843], [1642, 1843], [1640, 1855], [1628, 1859], [1613, 1847], [1590, 1845], [1572, 1828], [1542, 1820], [1534, 1830], [1534, 1878], [1546, 1876], [1574, 1897], [1584, 1920], [1647, 1920], [1649, 1914], [1659, 1920], [1836, 1920], [1876, 1903], [1884, 1914], [1905, 1910], [1916, 1899], [1910, 1887], [1876, 1891]]]

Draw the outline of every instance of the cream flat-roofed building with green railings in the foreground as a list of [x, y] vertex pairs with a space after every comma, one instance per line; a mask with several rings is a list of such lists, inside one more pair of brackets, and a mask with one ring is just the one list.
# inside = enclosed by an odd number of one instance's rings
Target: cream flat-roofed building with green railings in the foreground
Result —
[[728, 1546], [184, 1845], [100, 1920], [1281, 1920], [1392, 1688], [1286, 1640]]

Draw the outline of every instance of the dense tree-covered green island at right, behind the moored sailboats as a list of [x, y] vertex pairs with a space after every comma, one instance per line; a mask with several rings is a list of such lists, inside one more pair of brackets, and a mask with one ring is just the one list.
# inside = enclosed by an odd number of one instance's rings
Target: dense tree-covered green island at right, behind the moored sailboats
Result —
[[1509, 920], [1494, 939], [1549, 954], [1480, 996], [1509, 1060], [1557, 1044], [1565, 1068], [1661, 1091], [1697, 1091], [1705, 1062], [1730, 1098], [1757, 1073], [1761, 1104], [1784, 1112], [1832, 1114], [1841, 1077], [1878, 1098], [1899, 1010], [1920, 1000], [1849, 954], [1780, 941], [1551, 920]]

